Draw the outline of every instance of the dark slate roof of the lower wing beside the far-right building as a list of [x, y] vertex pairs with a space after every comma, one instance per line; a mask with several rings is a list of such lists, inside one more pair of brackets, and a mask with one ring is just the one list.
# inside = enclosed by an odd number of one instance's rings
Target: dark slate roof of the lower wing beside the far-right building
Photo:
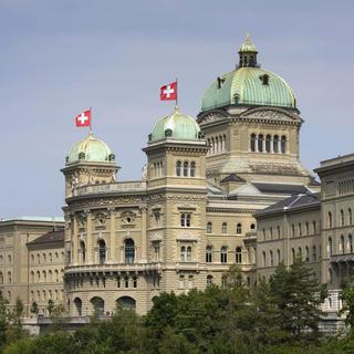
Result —
[[293, 195], [284, 200], [278, 201], [272, 206], [258, 211], [257, 216], [267, 215], [269, 212], [277, 212], [277, 211], [284, 211], [284, 210], [292, 210], [305, 206], [320, 206], [320, 194], [319, 192], [306, 192], [306, 194], [299, 194]]

